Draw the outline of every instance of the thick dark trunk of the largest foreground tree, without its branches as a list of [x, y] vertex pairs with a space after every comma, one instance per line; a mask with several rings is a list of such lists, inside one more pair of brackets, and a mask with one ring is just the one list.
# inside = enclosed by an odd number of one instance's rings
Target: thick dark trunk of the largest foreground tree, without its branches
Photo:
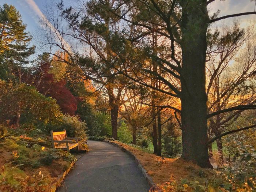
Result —
[[201, 167], [211, 167], [208, 154], [206, 84], [206, 0], [181, 1], [182, 155]]

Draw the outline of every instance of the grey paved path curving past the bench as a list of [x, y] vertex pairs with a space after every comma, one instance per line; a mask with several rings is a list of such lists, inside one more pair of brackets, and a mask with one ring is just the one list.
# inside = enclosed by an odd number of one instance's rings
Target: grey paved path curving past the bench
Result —
[[58, 192], [148, 192], [136, 162], [109, 143], [88, 141], [83, 155]]

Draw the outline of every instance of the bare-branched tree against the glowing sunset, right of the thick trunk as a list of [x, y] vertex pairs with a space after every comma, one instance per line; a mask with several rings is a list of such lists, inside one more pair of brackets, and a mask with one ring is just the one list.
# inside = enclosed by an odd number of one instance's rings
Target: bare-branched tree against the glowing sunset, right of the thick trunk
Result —
[[[216, 112], [237, 105], [253, 105], [255, 93], [256, 51], [253, 45], [253, 26], [240, 29], [238, 23], [215, 30], [209, 37], [207, 61], [208, 110]], [[241, 48], [244, 46], [244, 48]], [[231, 61], [234, 61], [231, 64]], [[220, 135], [241, 115], [243, 110], [217, 114], [209, 118], [210, 132]], [[217, 147], [223, 164], [222, 140]]]

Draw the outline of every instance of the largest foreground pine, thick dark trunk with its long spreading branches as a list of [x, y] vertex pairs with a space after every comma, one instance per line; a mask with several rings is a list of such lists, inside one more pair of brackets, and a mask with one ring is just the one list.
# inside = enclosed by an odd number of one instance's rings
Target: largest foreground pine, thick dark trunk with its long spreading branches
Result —
[[[152, 30], [145, 22], [145, 16], [150, 17], [151, 11], [162, 22], [155, 23], [159, 26], [158, 33], [170, 39], [171, 61], [153, 55], [157, 64], [167, 73], [175, 77], [181, 85], [177, 89], [169, 80], [155, 77], [167, 84], [169, 91], [157, 89], [150, 84], [145, 84], [134, 78], [133, 71], [121, 72], [130, 79], [140, 82], [162, 93], [180, 98], [181, 100], [181, 130], [182, 130], [182, 155], [181, 157], [197, 163], [201, 167], [212, 167], [208, 155], [208, 127], [207, 119], [217, 114], [232, 110], [255, 109], [255, 105], [238, 105], [233, 108], [219, 110], [208, 114], [206, 95], [206, 52], [207, 31], [211, 23], [234, 16], [256, 14], [246, 12], [241, 14], [218, 17], [218, 13], [209, 16], [207, 5], [215, 0], [173, 0], [173, 1], [118, 1], [108, 7], [108, 11], [123, 19], [124, 22], [142, 26]], [[101, 2], [103, 6], [106, 4]], [[144, 17], [132, 15], [132, 10], [143, 12]], [[148, 18], [146, 18], [148, 20]], [[181, 52], [179, 57], [176, 53]], [[141, 65], [138, 67], [142, 68]], [[143, 68], [142, 68], [143, 69]], [[145, 71], [146, 72], [146, 71]], [[151, 73], [152, 74], [152, 73]]]

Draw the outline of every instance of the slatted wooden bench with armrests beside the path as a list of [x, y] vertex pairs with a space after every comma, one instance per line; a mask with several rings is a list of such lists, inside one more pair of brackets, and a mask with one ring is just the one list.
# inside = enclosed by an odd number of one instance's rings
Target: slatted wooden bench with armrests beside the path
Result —
[[[52, 147], [66, 150], [69, 153], [69, 150], [76, 147], [76, 152], [78, 153], [78, 141], [80, 138], [68, 138], [66, 130], [60, 132], [51, 131], [52, 138]], [[72, 141], [75, 140], [75, 143]]]

